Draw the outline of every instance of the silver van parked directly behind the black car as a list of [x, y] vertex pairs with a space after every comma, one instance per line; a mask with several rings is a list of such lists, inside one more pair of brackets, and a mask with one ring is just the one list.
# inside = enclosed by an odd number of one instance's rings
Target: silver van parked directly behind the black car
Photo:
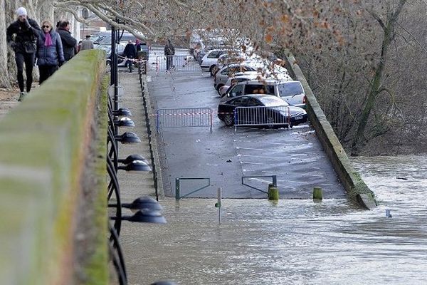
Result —
[[286, 100], [290, 105], [305, 108], [305, 92], [300, 81], [275, 81], [271, 79], [243, 81], [236, 83], [227, 90], [224, 98], [253, 93], [275, 95]]

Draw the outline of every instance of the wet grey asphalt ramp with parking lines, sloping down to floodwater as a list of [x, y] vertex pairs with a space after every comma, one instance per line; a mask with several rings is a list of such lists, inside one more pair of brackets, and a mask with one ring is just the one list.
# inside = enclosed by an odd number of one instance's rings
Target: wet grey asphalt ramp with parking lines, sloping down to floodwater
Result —
[[[182, 51], [184, 53], [185, 51]], [[211, 108], [213, 131], [209, 128], [163, 128], [165, 195], [175, 194], [176, 177], [210, 178], [211, 186], [189, 197], [216, 197], [218, 187], [223, 197], [264, 198], [265, 193], [242, 185], [245, 183], [267, 191], [276, 175], [280, 197], [309, 199], [312, 188], [323, 188], [327, 198], [345, 197], [344, 188], [332, 169], [315, 131], [310, 125], [292, 129], [264, 130], [226, 127], [216, 116], [219, 97], [209, 73], [149, 71], [149, 93], [157, 108]], [[206, 182], [181, 182], [186, 195]]]

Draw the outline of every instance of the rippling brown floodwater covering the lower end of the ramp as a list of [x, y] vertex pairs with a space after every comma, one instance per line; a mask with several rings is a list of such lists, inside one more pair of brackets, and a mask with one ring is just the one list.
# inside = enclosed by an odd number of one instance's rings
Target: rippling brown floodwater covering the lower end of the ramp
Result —
[[214, 199], [163, 201], [168, 224], [123, 229], [130, 284], [423, 284], [426, 161], [354, 160], [381, 203], [370, 212], [345, 199], [224, 199], [218, 224]]

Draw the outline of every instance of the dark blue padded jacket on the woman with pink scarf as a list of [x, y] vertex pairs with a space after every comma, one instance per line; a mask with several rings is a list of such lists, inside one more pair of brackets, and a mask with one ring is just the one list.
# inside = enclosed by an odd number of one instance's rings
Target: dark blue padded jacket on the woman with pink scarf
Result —
[[37, 39], [37, 65], [38, 66], [58, 66], [59, 63], [65, 61], [62, 41], [59, 33], [50, 32], [52, 38], [52, 46], [45, 46], [45, 33], [40, 31]]

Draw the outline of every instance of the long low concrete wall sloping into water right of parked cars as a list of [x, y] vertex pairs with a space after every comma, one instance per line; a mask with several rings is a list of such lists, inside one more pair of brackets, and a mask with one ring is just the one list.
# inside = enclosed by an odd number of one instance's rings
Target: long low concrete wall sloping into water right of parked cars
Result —
[[300, 67], [297, 65], [294, 56], [291, 53], [287, 53], [287, 66], [290, 76], [302, 83], [307, 96], [307, 114], [315, 128], [317, 138], [322, 143], [327, 156], [329, 157], [335, 172], [344, 185], [345, 190], [349, 195], [349, 198], [357, 202], [360, 207], [365, 209], [372, 209], [376, 207], [376, 200], [374, 192], [364, 183], [360, 175], [354, 170], [349, 157], [339, 142], [337, 135], [335, 135], [332, 126], [327, 121], [325, 113], [320, 108], [319, 103], [312, 93], [310, 86], [305, 80], [305, 76], [302, 73]]

